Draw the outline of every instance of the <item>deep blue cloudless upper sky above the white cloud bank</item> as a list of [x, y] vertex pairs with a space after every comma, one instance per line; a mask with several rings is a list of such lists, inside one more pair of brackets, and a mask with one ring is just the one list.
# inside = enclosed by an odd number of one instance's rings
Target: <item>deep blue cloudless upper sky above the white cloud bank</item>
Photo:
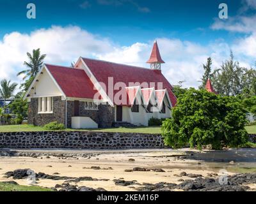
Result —
[[[225, 1], [229, 15], [236, 15], [242, 3]], [[36, 19], [26, 18], [26, 5], [36, 4]], [[177, 38], [208, 43], [212, 38], [233, 37], [212, 32], [221, 0], [1, 0], [0, 34], [28, 33], [51, 25], [77, 25], [92, 33], [114, 38], [120, 45], [152, 38]]]

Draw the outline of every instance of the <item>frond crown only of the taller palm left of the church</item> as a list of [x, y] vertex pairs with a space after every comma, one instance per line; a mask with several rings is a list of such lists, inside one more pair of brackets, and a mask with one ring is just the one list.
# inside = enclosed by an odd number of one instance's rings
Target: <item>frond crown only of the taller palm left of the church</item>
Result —
[[20, 71], [17, 76], [25, 75], [23, 80], [26, 78], [35, 77], [42, 65], [44, 64], [44, 59], [46, 55], [41, 55], [40, 48], [33, 50], [32, 55], [27, 52], [29, 62], [24, 62], [24, 65], [28, 68], [26, 70]]

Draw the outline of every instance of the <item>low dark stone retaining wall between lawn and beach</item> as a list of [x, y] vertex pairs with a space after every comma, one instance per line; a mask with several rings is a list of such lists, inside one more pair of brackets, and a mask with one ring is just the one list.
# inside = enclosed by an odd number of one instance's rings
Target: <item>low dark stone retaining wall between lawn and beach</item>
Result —
[[163, 148], [161, 135], [43, 131], [0, 133], [1, 148], [17, 149], [154, 149]]

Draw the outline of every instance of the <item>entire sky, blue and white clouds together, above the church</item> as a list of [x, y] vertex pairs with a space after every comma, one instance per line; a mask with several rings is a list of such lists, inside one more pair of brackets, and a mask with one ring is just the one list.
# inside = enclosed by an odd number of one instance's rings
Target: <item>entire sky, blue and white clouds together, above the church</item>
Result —
[[[47, 62], [55, 64], [69, 65], [83, 55], [147, 66], [144, 62], [157, 38], [170, 82], [185, 80], [187, 86], [196, 86], [207, 56], [218, 67], [232, 49], [241, 64], [254, 65], [255, 2], [0, 0], [0, 78], [19, 81], [15, 73], [24, 68], [26, 52], [37, 47], [47, 54]], [[35, 3], [36, 19], [26, 18], [28, 3]], [[220, 3], [228, 5], [227, 20], [218, 19]], [[248, 50], [239, 47], [246, 43]], [[17, 61], [2, 51], [14, 52]]]

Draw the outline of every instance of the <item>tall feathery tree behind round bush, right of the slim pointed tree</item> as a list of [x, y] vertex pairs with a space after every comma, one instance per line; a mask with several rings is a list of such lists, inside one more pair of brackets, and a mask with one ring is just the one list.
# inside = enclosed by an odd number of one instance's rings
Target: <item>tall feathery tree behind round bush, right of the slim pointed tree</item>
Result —
[[234, 55], [230, 52], [230, 59], [223, 62], [220, 69], [214, 70], [212, 73], [212, 85], [222, 95], [236, 96], [243, 92], [243, 75], [245, 68], [234, 61]]

